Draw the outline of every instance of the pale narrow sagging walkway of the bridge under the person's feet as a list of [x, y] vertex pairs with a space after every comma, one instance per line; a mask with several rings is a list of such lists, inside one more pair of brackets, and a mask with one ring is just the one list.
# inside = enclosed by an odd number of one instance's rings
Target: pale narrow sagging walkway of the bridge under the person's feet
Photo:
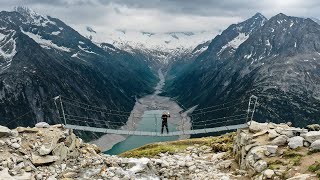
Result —
[[89, 126], [77, 126], [77, 125], [71, 125], [71, 124], [66, 124], [65, 127], [69, 128], [69, 129], [100, 132], [100, 133], [107, 133], [107, 134], [134, 135], [134, 136], [179, 136], [179, 135], [203, 134], [203, 133], [210, 133], [210, 132], [220, 132], [220, 131], [241, 129], [241, 128], [248, 127], [248, 125], [247, 125], [247, 123], [245, 123], [245, 124], [207, 128], [207, 129], [174, 131], [174, 132], [169, 132], [168, 134], [167, 133], [161, 134], [160, 132], [129, 131], [129, 130], [121, 130], [121, 129], [117, 130], [117, 129], [96, 128], [96, 127], [89, 127]]

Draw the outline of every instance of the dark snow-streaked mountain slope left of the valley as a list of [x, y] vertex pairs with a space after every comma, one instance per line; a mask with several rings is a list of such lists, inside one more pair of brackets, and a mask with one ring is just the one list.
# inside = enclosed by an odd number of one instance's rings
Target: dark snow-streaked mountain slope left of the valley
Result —
[[[58, 123], [58, 95], [130, 111], [156, 77], [145, 60], [97, 46], [59, 19], [26, 8], [0, 12], [0, 119], [3, 124]], [[57, 122], [58, 121], [58, 122]]]

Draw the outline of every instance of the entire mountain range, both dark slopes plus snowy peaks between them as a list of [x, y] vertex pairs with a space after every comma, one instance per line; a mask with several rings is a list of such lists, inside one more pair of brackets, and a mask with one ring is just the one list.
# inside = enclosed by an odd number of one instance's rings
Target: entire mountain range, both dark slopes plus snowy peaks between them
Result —
[[[257, 13], [215, 36], [75, 30], [28, 8], [0, 12], [0, 121], [10, 127], [57, 123], [52, 98], [58, 95], [130, 111], [137, 97], [154, 91], [159, 68], [167, 70], [163, 95], [186, 109], [256, 95], [258, 121], [319, 121], [320, 25], [314, 19]], [[246, 106], [223, 113], [236, 115]]]

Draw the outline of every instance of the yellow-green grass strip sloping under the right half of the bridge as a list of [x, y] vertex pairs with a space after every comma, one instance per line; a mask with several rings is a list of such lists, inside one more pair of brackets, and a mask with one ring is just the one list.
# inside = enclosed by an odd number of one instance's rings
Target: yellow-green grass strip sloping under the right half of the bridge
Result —
[[212, 147], [213, 152], [227, 152], [232, 150], [233, 138], [235, 133], [228, 133], [217, 137], [205, 137], [185, 139], [180, 141], [169, 141], [147, 144], [142, 147], [126, 151], [119, 156], [121, 157], [154, 157], [159, 153], [174, 154], [184, 151], [187, 147], [198, 144], [199, 146]]

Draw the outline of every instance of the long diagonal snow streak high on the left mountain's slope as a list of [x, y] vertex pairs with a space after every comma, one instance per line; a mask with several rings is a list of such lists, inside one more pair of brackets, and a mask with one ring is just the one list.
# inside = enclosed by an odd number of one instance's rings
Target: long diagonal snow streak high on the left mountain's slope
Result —
[[64, 46], [58, 46], [56, 44], [54, 44], [51, 40], [47, 40], [47, 39], [43, 39], [40, 35], [38, 34], [33, 34], [30, 32], [25, 32], [21, 29], [21, 31], [29, 36], [31, 39], [33, 39], [35, 42], [37, 42], [42, 48], [54, 48], [60, 51], [65, 51], [65, 52], [70, 52], [70, 48], [64, 47]]

